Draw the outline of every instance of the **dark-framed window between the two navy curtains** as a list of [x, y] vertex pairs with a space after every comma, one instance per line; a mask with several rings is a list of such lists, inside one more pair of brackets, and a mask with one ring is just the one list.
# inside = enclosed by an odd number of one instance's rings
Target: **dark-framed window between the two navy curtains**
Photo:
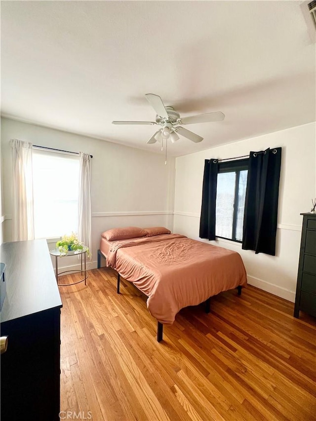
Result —
[[248, 159], [218, 165], [215, 235], [242, 241]]

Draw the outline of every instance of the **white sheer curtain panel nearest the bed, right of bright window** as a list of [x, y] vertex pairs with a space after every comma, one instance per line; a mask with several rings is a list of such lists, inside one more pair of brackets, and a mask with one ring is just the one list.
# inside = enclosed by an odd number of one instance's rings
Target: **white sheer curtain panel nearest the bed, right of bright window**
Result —
[[79, 152], [78, 238], [91, 252], [90, 162], [88, 153]]

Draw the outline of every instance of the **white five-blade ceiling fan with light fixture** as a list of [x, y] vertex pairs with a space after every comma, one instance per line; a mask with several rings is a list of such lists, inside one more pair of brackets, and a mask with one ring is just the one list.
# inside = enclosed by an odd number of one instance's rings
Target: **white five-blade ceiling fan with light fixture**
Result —
[[170, 139], [172, 143], [179, 139], [178, 134], [192, 140], [192, 142], [201, 142], [203, 138], [196, 133], [182, 127], [185, 124], [194, 123], [208, 123], [212, 121], [224, 120], [225, 115], [220, 111], [216, 113], [207, 113], [199, 115], [191, 115], [190, 117], [181, 118], [180, 114], [174, 111], [173, 107], [165, 107], [159, 95], [146, 94], [148, 102], [156, 111], [156, 121], [112, 121], [113, 124], [158, 124], [162, 126], [157, 132], [149, 139], [147, 143], [152, 144], [157, 141]]

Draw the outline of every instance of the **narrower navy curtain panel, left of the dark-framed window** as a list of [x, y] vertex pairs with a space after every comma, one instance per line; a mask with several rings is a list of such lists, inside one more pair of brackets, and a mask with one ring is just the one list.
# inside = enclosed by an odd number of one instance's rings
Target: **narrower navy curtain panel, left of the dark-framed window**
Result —
[[199, 236], [208, 240], [215, 240], [217, 172], [217, 159], [205, 159]]

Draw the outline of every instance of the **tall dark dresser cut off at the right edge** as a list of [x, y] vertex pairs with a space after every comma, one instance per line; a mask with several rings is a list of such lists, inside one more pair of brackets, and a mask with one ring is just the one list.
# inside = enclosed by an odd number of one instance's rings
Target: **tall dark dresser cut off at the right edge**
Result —
[[303, 228], [294, 306], [297, 318], [300, 310], [316, 316], [316, 214], [301, 215]]

